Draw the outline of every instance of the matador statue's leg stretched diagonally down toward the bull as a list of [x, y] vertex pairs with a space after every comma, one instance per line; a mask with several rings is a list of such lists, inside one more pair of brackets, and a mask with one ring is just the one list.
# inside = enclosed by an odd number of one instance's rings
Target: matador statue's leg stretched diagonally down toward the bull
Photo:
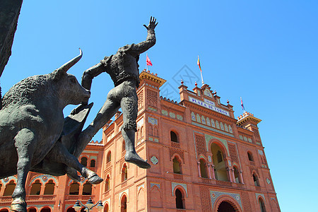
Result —
[[114, 98], [114, 95], [117, 95], [118, 92], [116, 88], [110, 90], [110, 93], [108, 93], [107, 95], [105, 104], [102, 106], [93, 122], [90, 123], [90, 125], [78, 136], [78, 142], [76, 143], [76, 149], [73, 154], [76, 158], [81, 155], [84, 148], [86, 148], [87, 144], [90, 142], [93, 136], [95, 136], [95, 134], [102, 128], [102, 126], [104, 126], [119, 110], [120, 104]]

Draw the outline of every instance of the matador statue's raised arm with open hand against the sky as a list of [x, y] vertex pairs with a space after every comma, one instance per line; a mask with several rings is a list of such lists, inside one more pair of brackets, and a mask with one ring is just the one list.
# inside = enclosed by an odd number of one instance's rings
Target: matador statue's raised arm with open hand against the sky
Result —
[[139, 44], [132, 45], [130, 49], [132, 52], [141, 54], [155, 45], [155, 27], [158, 25], [158, 23], [155, 23], [155, 21], [156, 19], [151, 17], [149, 25], [143, 25], [148, 30], [147, 38], [145, 41], [139, 42]]

